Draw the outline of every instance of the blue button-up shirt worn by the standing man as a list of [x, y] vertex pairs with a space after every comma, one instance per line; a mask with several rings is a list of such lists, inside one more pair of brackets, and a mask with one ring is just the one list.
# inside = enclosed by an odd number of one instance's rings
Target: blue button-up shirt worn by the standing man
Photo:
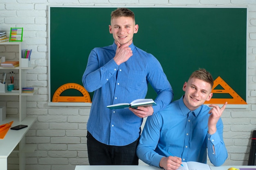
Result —
[[154, 113], [166, 107], [173, 99], [173, 90], [159, 61], [133, 44], [132, 56], [117, 65], [113, 58], [117, 45], [94, 48], [83, 74], [83, 85], [88, 92], [94, 91], [87, 129], [99, 142], [125, 146], [140, 135], [143, 119], [129, 109], [111, 110], [106, 106], [132, 102], [145, 98], [148, 83], [157, 92]]

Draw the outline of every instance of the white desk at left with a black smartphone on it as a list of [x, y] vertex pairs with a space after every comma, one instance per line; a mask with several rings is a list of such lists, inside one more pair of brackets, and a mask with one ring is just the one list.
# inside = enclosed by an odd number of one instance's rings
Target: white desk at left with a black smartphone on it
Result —
[[[18, 143], [20, 143], [22, 138], [24, 139], [25, 134], [30, 129], [32, 124], [36, 121], [36, 118], [26, 117], [22, 122], [20, 122], [18, 117], [7, 117], [4, 121], [0, 122], [0, 125], [11, 122], [11, 121], [13, 121], [13, 124], [11, 125], [11, 127], [17, 126], [19, 124], [25, 124], [28, 127], [24, 128], [24, 129], [20, 129], [18, 131], [9, 129], [9, 131], [5, 135], [4, 139], [0, 139], [0, 167], [1, 167], [1, 170], [7, 170], [7, 157], [11, 154], [11, 152], [18, 145]], [[22, 141], [22, 142], [23, 143], [22, 143], [22, 145], [20, 144], [19, 150], [21, 150], [22, 147], [25, 145], [25, 141]], [[20, 160], [25, 159], [22, 157], [21, 153], [19, 153], [19, 155], [20, 155]], [[20, 163], [25, 163], [25, 162], [20, 162]]]

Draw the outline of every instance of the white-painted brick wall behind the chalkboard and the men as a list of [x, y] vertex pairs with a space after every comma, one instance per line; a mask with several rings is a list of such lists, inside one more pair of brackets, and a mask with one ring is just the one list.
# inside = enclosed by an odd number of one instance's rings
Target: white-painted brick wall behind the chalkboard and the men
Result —
[[[1, 0], [0, 30], [9, 31], [10, 27], [23, 27], [23, 40], [33, 50], [31, 62], [38, 65], [27, 74], [28, 85], [37, 90], [34, 96], [27, 97], [27, 116], [36, 117], [36, 122], [26, 135], [26, 143], [37, 145], [34, 153], [27, 153], [27, 170], [72, 170], [75, 165], [88, 164], [86, 122], [90, 107], [48, 106], [48, 5], [248, 7], [248, 108], [228, 108], [222, 115], [224, 140], [228, 150], [228, 159], [224, 165], [247, 165], [251, 134], [256, 129], [254, 0]], [[108, 30], [108, 25], [106, 29]], [[72, 33], [69, 35], [72, 36]], [[0, 55], [6, 55], [7, 52], [15, 54], [13, 49], [0, 49]], [[0, 102], [7, 106], [7, 115], [18, 113], [16, 98], [8, 96]], [[9, 156], [9, 169], [18, 169], [17, 154], [11, 153]]]

